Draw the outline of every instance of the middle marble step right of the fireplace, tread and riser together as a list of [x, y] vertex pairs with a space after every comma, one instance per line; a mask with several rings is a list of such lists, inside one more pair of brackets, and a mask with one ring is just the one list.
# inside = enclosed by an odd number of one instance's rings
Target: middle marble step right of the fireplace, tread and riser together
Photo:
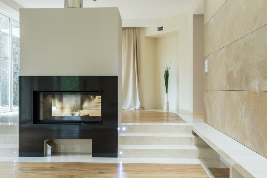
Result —
[[121, 133], [121, 145], [208, 145], [192, 133]]

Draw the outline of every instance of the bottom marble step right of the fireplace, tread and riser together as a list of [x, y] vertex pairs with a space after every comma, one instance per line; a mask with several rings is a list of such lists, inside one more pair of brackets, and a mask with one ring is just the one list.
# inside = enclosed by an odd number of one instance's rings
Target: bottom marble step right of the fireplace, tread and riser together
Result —
[[118, 158], [219, 159], [210, 146], [119, 145]]

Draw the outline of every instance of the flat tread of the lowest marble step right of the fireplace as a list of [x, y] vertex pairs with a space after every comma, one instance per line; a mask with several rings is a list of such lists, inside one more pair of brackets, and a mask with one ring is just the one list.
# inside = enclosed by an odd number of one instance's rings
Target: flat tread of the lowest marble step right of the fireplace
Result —
[[119, 145], [119, 149], [212, 149], [199, 145]]

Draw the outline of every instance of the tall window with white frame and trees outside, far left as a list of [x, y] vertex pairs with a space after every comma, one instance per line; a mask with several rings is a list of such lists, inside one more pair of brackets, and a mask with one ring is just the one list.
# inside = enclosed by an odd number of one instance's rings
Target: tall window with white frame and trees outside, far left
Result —
[[19, 23], [0, 13], [0, 113], [19, 109]]

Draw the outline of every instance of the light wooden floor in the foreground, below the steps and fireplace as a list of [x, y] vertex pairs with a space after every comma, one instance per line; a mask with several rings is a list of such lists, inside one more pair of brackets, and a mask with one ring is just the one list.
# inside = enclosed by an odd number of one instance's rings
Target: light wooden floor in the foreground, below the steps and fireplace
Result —
[[209, 176], [200, 164], [0, 162], [4, 178], [162, 178]]

